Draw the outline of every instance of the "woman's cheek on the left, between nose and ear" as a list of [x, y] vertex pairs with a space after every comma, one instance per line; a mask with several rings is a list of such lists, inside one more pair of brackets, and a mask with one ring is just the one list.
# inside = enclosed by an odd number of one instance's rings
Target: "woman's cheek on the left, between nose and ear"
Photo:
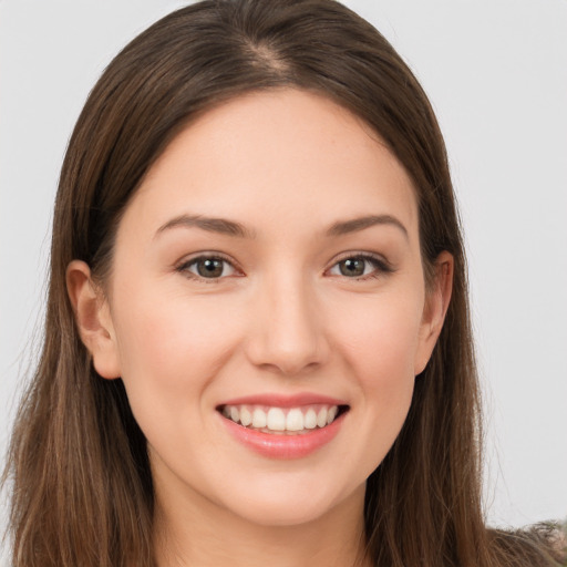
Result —
[[169, 410], [195, 406], [235, 344], [230, 311], [143, 289], [116, 305], [122, 378], [133, 410], [150, 406], [173, 417]]

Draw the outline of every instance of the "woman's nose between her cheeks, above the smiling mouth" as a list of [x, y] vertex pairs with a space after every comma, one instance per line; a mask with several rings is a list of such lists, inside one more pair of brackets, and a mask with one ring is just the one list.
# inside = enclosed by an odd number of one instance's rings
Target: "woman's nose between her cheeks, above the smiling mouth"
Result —
[[265, 282], [249, 313], [247, 354], [255, 365], [298, 375], [328, 360], [324, 313], [315, 295], [301, 275]]

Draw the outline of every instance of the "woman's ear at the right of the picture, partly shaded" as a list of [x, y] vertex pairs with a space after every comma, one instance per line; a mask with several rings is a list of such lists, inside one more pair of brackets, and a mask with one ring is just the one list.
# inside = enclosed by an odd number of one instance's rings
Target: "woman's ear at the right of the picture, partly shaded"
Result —
[[419, 347], [414, 362], [415, 375], [423, 372], [427, 365], [445, 321], [453, 290], [453, 256], [447, 251], [442, 251], [435, 260], [434, 268], [434, 280], [426, 290], [425, 306], [423, 308]]

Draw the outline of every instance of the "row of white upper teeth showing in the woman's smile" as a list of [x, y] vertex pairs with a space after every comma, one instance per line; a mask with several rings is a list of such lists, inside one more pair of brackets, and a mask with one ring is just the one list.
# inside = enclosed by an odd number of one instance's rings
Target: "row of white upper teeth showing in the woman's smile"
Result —
[[225, 405], [223, 415], [268, 433], [305, 431], [324, 427], [334, 421], [338, 405], [308, 405], [302, 408], [268, 408], [265, 405]]

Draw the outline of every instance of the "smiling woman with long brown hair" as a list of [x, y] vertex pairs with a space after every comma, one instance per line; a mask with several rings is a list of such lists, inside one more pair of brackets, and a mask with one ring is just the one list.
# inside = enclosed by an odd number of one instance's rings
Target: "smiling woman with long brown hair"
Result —
[[465, 262], [415, 79], [327, 0], [111, 63], [55, 206], [16, 566], [554, 565], [487, 530]]

